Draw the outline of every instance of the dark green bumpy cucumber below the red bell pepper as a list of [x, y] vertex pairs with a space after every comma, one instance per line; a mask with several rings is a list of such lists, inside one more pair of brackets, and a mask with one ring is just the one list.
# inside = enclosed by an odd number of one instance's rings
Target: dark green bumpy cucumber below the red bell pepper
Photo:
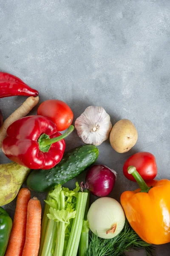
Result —
[[36, 192], [48, 192], [57, 184], [73, 179], [97, 159], [99, 150], [94, 145], [82, 145], [64, 154], [62, 160], [49, 170], [33, 170], [27, 186]]

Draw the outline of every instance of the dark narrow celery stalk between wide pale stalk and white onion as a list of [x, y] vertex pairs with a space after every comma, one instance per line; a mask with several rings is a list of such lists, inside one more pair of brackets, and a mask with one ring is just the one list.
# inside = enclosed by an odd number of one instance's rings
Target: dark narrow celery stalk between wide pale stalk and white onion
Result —
[[[84, 216], [84, 221], [87, 220], [87, 215], [88, 215], [88, 209], [89, 209], [89, 201], [90, 201], [90, 193], [87, 189], [85, 189], [85, 192], [88, 193], [88, 199], [85, 207], [85, 216]], [[79, 256], [85, 256], [85, 253], [88, 249], [88, 241], [89, 241], [89, 228], [83, 228], [82, 227], [82, 233], [80, 237], [80, 242], [79, 242]]]

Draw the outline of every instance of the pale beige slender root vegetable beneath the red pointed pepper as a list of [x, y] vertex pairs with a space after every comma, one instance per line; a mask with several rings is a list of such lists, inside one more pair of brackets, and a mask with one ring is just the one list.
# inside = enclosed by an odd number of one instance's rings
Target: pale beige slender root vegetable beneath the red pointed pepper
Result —
[[23, 104], [17, 108], [14, 113], [12, 113], [8, 118], [3, 122], [3, 125], [0, 128], [0, 148], [2, 147], [3, 139], [6, 137], [6, 130], [13, 122], [17, 121], [18, 119], [26, 116], [34, 106], [37, 105], [39, 102], [39, 97], [29, 97], [26, 99]]

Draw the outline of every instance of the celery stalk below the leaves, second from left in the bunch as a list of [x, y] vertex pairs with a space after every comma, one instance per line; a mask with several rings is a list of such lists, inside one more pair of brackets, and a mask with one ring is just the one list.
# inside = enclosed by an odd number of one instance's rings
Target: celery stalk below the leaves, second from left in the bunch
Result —
[[55, 249], [56, 237], [57, 222], [49, 219], [41, 256], [53, 256], [52, 251]]

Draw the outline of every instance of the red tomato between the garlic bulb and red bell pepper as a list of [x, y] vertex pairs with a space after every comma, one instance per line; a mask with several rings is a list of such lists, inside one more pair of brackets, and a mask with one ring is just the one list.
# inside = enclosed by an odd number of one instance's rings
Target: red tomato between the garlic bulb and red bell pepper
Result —
[[37, 114], [49, 117], [57, 126], [58, 131], [64, 131], [73, 122], [71, 108], [61, 100], [48, 99], [38, 107]]

